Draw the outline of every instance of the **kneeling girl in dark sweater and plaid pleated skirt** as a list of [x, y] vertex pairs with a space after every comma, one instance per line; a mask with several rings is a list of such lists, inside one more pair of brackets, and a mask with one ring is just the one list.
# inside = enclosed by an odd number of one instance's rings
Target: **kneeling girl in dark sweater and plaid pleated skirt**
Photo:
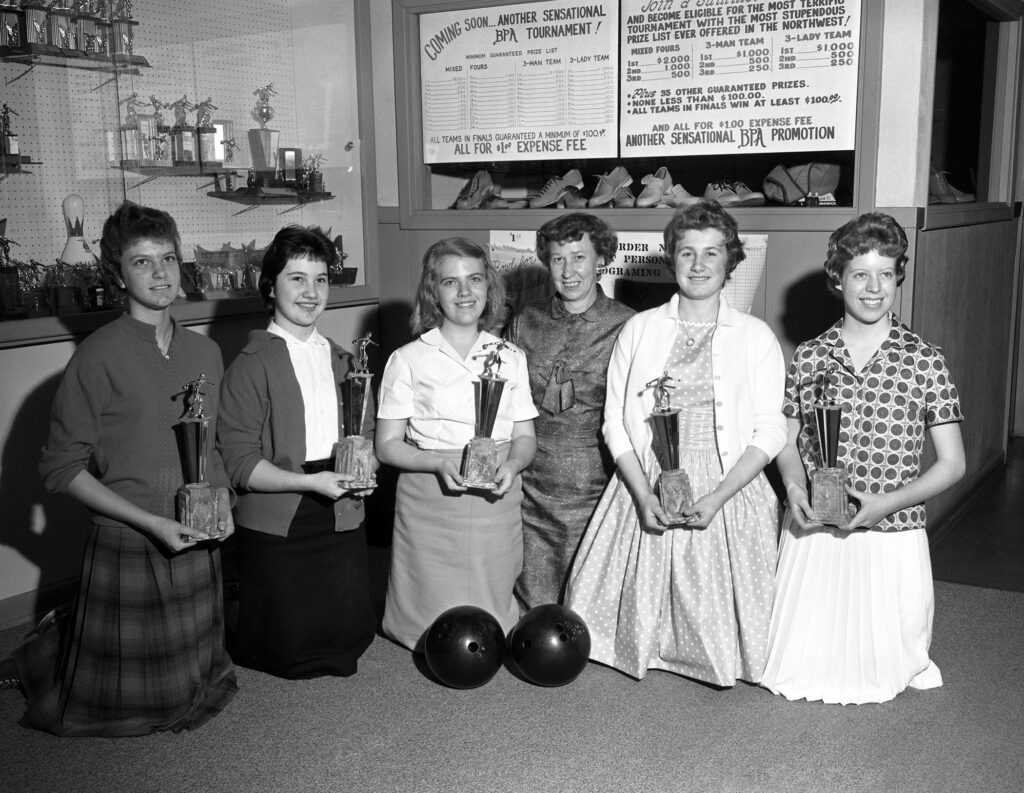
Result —
[[[92, 512], [68, 619], [46, 619], [15, 653], [26, 722], [60, 736], [138, 736], [197, 727], [231, 700], [220, 552], [233, 531], [213, 446], [220, 349], [173, 321], [177, 226], [124, 204], [103, 225], [102, 265], [128, 312], [75, 351], [53, 400], [40, 471]], [[212, 527], [176, 519], [186, 482], [174, 427], [206, 431], [187, 451], [219, 487]], [[61, 635], [63, 634], [63, 635]]]

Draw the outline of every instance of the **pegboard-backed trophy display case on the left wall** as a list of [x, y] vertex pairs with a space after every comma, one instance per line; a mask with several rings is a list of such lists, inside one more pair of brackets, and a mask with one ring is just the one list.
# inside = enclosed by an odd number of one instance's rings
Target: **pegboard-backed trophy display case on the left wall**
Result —
[[[81, 335], [105, 321], [95, 314], [123, 308], [103, 290], [95, 304], [77, 300], [71, 323], [70, 306], [34, 296], [56, 283], [71, 195], [87, 207], [82, 236], [95, 251], [126, 200], [175, 218], [184, 322], [261, 315], [258, 261], [205, 266], [262, 250], [290, 223], [345, 240], [347, 277], [332, 279], [330, 307], [376, 300], [372, 90], [358, 67], [370, 42], [356, 35], [368, 25], [356, 0], [0, 2], [2, 263], [11, 283], [22, 274], [0, 320], [26, 320], [0, 322], [0, 347]], [[88, 294], [94, 274], [72, 275]]]

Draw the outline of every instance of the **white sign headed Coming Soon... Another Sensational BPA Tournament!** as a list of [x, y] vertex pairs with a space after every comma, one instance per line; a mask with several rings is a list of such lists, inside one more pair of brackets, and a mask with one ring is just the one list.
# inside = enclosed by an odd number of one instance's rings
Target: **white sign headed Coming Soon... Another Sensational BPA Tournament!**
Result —
[[424, 163], [616, 155], [618, 3], [420, 15]]

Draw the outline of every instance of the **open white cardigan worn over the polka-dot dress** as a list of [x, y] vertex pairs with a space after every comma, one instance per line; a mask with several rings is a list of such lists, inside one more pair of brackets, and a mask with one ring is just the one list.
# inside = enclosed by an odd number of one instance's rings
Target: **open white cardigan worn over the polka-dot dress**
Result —
[[[604, 441], [617, 460], [636, 452], [641, 466], [650, 449], [648, 417], [654, 393], [645, 384], [665, 370], [679, 332], [679, 295], [631, 317], [623, 326], [608, 364]], [[748, 447], [772, 459], [786, 441], [782, 415], [785, 362], [778, 339], [761, 320], [732, 308], [720, 294], [718, 327], [711, 343], [715, 392], [715, 436], [722, 472]], [[642, 391], [642, 393], [640, 393]], [[649, 471], [648, 471], [649, 473]]]

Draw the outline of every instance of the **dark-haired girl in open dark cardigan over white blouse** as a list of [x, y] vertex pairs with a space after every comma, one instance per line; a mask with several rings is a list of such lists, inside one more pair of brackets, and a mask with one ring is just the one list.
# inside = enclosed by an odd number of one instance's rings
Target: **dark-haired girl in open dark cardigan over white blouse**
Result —
[[218, 443], [239, 489], [231, 656], [279, 677], [353, 674], [377, 625], [358, 498], [372, 483], [335, 466], [343, 435], [373, 437], [369, 390], [343, 392], [369, 373], [316, 329], [337, 255], [319, 228], [278, 232], [259, 278], [272, 319], [249, 334], [221, 389]]

